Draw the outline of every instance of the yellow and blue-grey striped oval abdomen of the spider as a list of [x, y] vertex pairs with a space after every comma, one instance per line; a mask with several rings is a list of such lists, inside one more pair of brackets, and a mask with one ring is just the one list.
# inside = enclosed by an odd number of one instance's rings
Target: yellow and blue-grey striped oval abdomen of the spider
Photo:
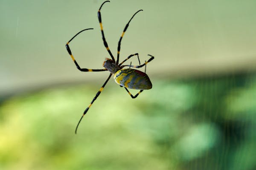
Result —
[[148, 90], [152, 88], [152, 83], [147, 74], [131, 68], [117, 71], [114, 74], [114, 80], [117, 84], [126, 88], [137, 90]]

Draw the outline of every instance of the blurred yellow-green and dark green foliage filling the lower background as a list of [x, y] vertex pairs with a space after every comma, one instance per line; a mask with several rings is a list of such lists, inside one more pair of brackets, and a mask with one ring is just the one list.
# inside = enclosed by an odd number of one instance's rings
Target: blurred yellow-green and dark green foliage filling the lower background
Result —
[[77, 135], [100, 85], [14, 96], [0, 107], [0, 169], [253, 170], [255, 78], [153, 81], [137, 99], [110, 84]]

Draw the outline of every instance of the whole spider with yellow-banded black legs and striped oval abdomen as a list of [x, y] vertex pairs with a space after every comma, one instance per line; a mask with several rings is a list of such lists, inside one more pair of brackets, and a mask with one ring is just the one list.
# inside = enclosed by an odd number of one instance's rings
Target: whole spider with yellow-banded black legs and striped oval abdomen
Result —
[[[97, 99], [97, 97], [100, 95], [100, 93], [102, 92], [103, 88], [105, 87], [105, 85], [107, 84], [108, 80], [110, 79], [110, 77], [112, 76], [112, 74], [114, 74], [113, 78], [115, 80], [115, 82], [117, 84], [120, 85], [120, 87], [124, 87], [125, 90], [128, 92], [128, 94], [131, 96], [131, 98], [136, 98], [143, 90], [148, 90], [152, 88], [152, 83], [148, 77], [148, 75], [145, 73], [146, 72], [146, 64], [148, 64], [148, 62], [150, 62], [151, 60], [154, 59], [153, 56], [150, 56], [150, 59], [148, 59], [148, 61], [145, 61], [144, 64], [140, 65], [140, 59], [139, 59], [139, 54], [131, 54], [129, 55], [125, 60], [123, 60], [122, 62], [119, 63], [119, 54], [120, 54], [120, 47], [121, 47], [121, 41], [122, 41], [122, 37], [125, 34], [125, 31], [127, 30], [129, 23], [131, 22], [131, 20], [133, 19], [133, 17], [140, 11], [143, 11], [142, 9], [137, 11], [129, 20], [129, 22], [126, 24], [121, 37], [119, 39], [118, 42], [118, 47], [117, 47], [117, 57], [116, 60], [113, 57], [113, 54], [111, 53], [110, 49], [108, 48], [108, 43], [105, 39], [105, 35], [104, 35], [104, 31], [103, 31], [103, 27], [102, 27], [102, 18], [101, 18], [101, 13], [100, 10], [102, 8], [102, 6], [107, 3], [110, 2], [109, 0], [105, 1], [104, 3], [102, 3], [102, 5], [99, 8], [98, 11], [98, 19], [99, 19], [99, 25], [100, 25], [100, 29], [101, 29], [101, 33], [102, 33], [102, 40], [103, 43], [105, 45], [105, 48], [107, 49], [109, 55], [111, 56], [111, 59], [106, 58], [105, 61], [103, 62], [103, 69], [88, 69], [88, 68], [80, 68], [79, 64], [76, 62], [70, 47], [69, 47], [69, 43], [81, 32], [86, 31], [86, 30], [90, 30], [93, 28], [87, 28], [84, 29], [82, 31], [79, 31], [74, 37], [72, 37], [66, 44], [66, 48], [67, 48], [67, 52], [70, 54], [70, 57], [72, 58], [73, 62], [76, 64], [76, 67], [80, 70], [80, 71], [110, 71], [110, 74], [108, 76], [108, 79], [105, 81], [105, 83], [102, 85], [102, 87], [99, 89], [99, 91], [97, 92], [96, 96], [93, 98], [93, 100], [90, 102], [89, 106], [84, 110], [83, 115], [81, 116], [81, 119], [79, 120], [78, 124], [76, 125], [76, 130], [75, 133], [77, 132], [77, 128], [81, 122], [81, 120], [83, 119], [84, 115], [87, 113], [87, 111], [89, 110], [89, 108], [92, 106], [93, 102]], [[125, 61], [127, 61], [128, 59], [130, 59], [133, 56], [137, 56], [138, 60], [139, 60], [139, 65], [122, 65]], [[131, 67], [133, 68], [141, 68], [145, 66], [145, 72], [136, 70], [136, 69], [131, 69]], [[124, 67], [129, 67], [129, 68], [124, 68]], [[140, 90], [135, 96], [133, 96], [130, 91], [127, 89], [137, 89]]]

